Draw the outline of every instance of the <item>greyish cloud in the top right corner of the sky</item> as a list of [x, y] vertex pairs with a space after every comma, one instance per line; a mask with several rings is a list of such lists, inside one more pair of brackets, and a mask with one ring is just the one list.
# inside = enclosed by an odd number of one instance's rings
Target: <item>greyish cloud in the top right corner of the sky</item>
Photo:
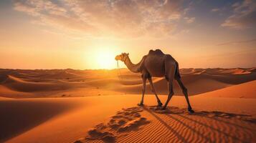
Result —
[[232, 29], [246, 29], [256, 25], [256, 3], [245, 0], [232, 5], [233, 14], [229, 16], [222, 26]]

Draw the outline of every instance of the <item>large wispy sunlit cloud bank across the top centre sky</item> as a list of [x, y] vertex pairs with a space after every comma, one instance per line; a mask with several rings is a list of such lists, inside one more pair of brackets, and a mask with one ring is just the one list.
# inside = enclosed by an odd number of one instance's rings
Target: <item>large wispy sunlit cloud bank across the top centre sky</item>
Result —
[[86, 36], [118, 37], [171, 34], [183, 12], [181, 1], [171, 0], [16, 0], [14, 9], [33, 16], [37, 24]]

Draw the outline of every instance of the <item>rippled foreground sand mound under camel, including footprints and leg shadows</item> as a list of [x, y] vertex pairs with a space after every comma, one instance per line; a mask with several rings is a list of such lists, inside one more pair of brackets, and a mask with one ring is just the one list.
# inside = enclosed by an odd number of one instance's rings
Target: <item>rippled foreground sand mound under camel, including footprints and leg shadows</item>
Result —
[[255, 121], [244, 114], [131, 107], [76, 142], [256, 142]]

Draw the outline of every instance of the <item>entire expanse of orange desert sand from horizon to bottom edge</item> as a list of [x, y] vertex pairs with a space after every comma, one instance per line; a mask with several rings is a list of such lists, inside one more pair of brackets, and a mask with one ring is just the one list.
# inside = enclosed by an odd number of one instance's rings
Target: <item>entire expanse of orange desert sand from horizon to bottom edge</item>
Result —
[[[166, 111], [117, 70], [0, 69], [0, 142], [256, 142], [256, 69], [181, 69]], [[166, 101], [165, 79], [153, 82]]]

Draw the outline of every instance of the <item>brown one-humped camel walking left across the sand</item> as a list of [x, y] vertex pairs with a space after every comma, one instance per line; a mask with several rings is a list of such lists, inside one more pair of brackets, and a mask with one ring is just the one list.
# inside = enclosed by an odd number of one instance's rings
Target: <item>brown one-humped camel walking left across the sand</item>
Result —
[[171, 100], [171, 97], [174, 95], [173, 81], [174, 79], [176, 79], [176, 81], [179, 84], [179, 87], [181, 87], [182, 92], [186, 98], [186, 102], [188, 104], [188, 111], [194, 112], [189, 103], [187, 89], [181, 82], [181, 76], [179, 74], [179, 64], [170, 54], [163, 54], [163, 52], [160, 49], [156, 49], [156, 51], [150, 50], [146, 56], [143, 56], [143, 58], [141, 59], [140, 62], [138, 62], [138, 64], [133, 64], [131, 62], [128, 53], [122, 53], [120, 55], [115, 56], [115, 60], [123, 61], [130, 71], [141, 73], [143, 87], [141, 103], [138, 104], [139, 106], [143, 106], [147, 79], [149, 84], [151, 85], [151, 91], [156, 96], [158, 107], [162, 106], [162, 103], [156, 94], [156, 90], [153, 87], [151, 77], [165, 77], [168, 82], [169, 94], [166, 103], [163, 105], [161, 109], [166, 109], [167, 105]]

